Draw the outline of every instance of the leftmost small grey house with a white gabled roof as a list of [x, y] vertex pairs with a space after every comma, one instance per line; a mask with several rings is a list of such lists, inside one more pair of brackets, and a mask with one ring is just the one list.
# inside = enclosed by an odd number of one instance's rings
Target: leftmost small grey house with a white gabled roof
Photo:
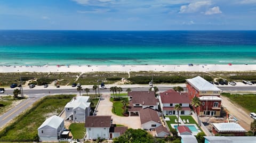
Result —
[[61, 138], [63, 130], [64, 120], [57, 115], [51, 116], [37, 129], [39, 141], [56, 142]]

